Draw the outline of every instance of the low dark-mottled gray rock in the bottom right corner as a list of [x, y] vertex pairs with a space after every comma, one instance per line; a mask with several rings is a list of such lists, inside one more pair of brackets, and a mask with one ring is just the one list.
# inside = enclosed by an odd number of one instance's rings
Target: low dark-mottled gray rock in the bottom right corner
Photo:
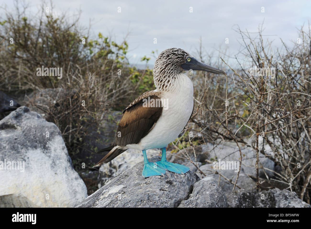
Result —
[[311, 208], [311, 205], [299, 199], [295, 192], [278, 188], [257, 192], [236, 190], [227, 196], [229, 208]]

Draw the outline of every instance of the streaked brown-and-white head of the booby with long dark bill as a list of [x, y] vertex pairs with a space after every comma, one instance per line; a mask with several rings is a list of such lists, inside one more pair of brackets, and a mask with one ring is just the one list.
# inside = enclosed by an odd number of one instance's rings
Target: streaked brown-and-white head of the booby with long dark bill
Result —
[[226, 75], [224, 71], [196, 60], [185, 50], [170, 48], [162, 51], [156, 59], [153, 68], [155, 85], [157, 88], [163, 88], [171, 79], [190, 69]]

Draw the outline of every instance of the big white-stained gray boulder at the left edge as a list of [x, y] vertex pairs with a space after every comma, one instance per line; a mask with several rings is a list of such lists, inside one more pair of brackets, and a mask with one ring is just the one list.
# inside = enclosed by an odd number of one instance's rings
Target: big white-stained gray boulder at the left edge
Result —
[[[72, 168], [54, 123], [27, 107], [19, 107], [0, 121], [0, 142], [0, 196], [6, 200], [4, 207], [73, 207], [87, 197], [86, 186]], [[24, 166], [4, 169], [12, 161]]]

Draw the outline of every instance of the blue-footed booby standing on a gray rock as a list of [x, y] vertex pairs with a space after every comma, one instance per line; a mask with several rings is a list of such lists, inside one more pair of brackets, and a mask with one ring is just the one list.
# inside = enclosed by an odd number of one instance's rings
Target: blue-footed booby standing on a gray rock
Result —
[[[142, 150], [144, 178], [163, 175], [167, 170], [184, 174], [189, 168], [166, 160], [166, 147], [183, 131], [193, 113], [193, 84], [183, 74], [185, 70], [201, 70], [225, 75], [220, 69], [208, 66], [185, 50], [170, 48], [157, 57], [153, 69], [156, 89], [135, 99], [119, 122], [114, 144], [98, 152], [107, 152], [95, 166], [108, 163], [127, 149]], [[162, 149], [160, 161], [151, 163], [146, 150]]]

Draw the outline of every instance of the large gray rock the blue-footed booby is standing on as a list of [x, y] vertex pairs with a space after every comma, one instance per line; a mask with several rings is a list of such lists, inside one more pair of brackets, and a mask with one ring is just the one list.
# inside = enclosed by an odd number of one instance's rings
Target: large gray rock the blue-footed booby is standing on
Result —
[[[149, 159], [156, 162], [161, 157]], [[143, 161], [106, 182], [106, 184], [76, 207], [178, 207], [188, 199], [193, 184], [199, 180], [191, 171], [176, 174], [167, 171], [165, 177], [142, 177]]]

